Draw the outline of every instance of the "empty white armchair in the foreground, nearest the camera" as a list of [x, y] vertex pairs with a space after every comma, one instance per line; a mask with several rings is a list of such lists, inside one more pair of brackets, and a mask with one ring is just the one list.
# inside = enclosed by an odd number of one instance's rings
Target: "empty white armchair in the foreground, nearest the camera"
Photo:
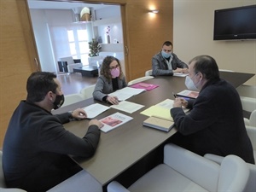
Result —
[[125, 189], [113, 181], [108, 192], [128, 191], [243, 191], [249, 170], [236, 155], [221, 165], [172, 143], [164, 148], [164, 163], [154, 167]]

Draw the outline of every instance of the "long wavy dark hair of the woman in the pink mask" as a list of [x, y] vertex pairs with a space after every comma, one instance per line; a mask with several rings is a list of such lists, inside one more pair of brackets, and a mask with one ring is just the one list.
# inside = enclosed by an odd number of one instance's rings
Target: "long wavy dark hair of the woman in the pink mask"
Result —
[[105, 78], [107, 78], [109, 81], [111, 81], [112, 79], [109, 66], [110, 66], [110, 63], [112, 63], [113, 61], [117, 61], [119, 64], [119, 70], [120, 70], [119, 79], [122, 79], [124, 77], [124, 73], [122, 71], [122, 67], [120, 65], [119, 59], [115, 58], [114, 56], [106, 56], [102, 62], [101, 75], [104, 75]]

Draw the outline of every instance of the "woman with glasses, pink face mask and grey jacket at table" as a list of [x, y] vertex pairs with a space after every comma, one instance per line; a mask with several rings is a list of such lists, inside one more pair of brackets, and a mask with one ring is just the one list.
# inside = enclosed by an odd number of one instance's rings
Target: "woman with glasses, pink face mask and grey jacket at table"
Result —
[[113, 56], [105, 57], [102, 62], [100, 76], [93, 91], [93, 97], [96, 100], [117, 105], [119, 104], [117, 96], [108, 96], [108, 94], [126, 86], [125, 75], [122, 72], [120, 61]]

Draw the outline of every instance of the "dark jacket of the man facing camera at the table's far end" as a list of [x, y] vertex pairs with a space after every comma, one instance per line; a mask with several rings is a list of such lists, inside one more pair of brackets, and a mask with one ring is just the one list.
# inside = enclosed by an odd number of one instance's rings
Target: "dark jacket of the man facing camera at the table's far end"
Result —
[[[175, 70], [177, 68], [189, 68], [186, 63], [179, 60], [177, 55], [172, 53], [172, 69]], [[173, 75], [172, 70], [168, 69], [166, 59], [162, 56], [161, 52], [157, 55], [154, 55], [152, 58], [152, 75]]]

